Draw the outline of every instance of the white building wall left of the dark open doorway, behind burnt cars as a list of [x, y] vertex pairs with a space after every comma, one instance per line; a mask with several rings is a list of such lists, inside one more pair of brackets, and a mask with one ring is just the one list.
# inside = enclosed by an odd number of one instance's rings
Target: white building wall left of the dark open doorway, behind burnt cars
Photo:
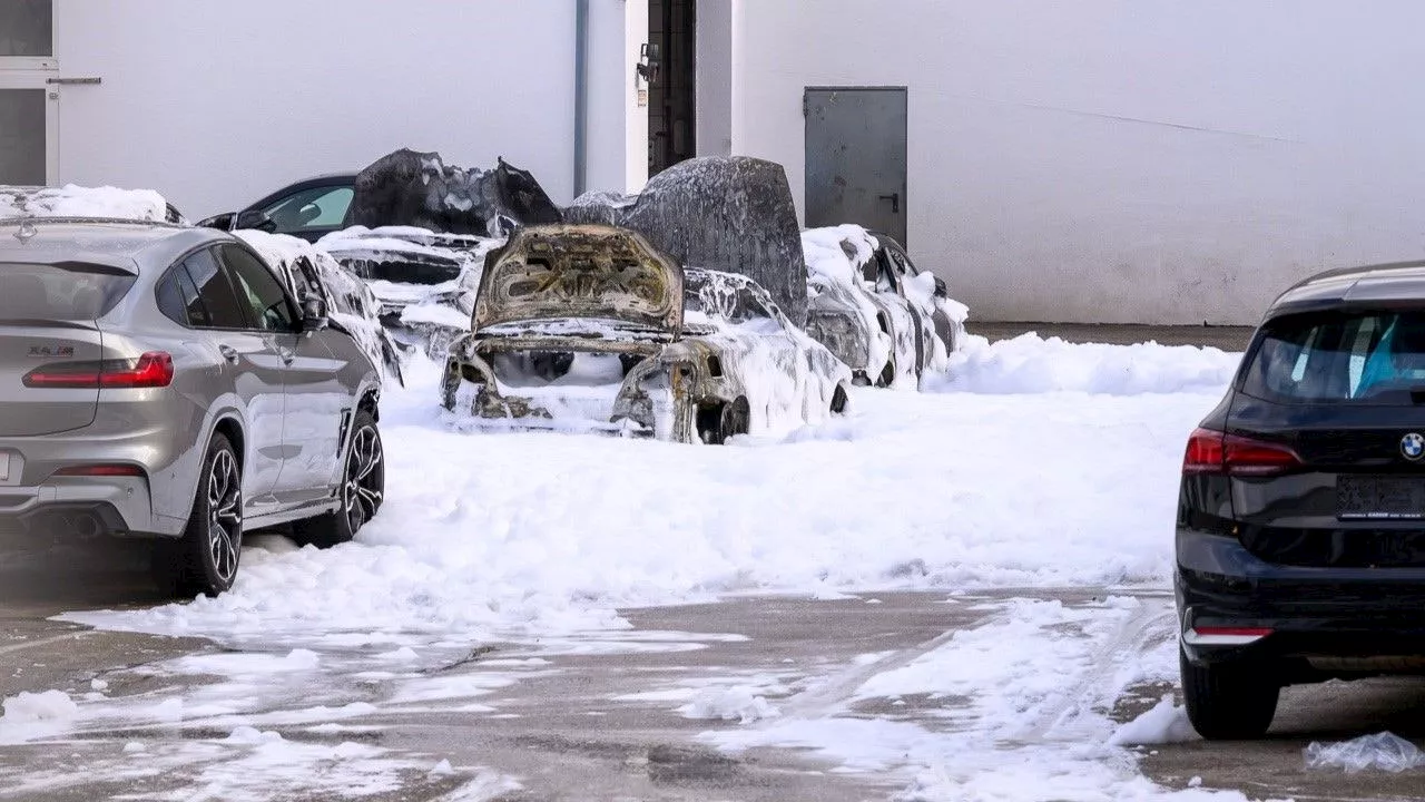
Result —
[[[574, 184], [573, 0], [56, 0], [60, 180], [190, 217], [396, 150]], [[623, 183], [624, 0], [590, 11], [590, 186]], [[611, 67], [614, 66], [614, 67]]]

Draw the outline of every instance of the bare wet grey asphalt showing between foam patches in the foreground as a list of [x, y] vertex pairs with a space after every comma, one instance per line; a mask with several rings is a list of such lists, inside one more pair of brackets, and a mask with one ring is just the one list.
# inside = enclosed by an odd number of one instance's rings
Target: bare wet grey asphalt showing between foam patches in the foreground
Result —
[[[98, 559], [95, 559], [98, 557]], [[182, 655], [282, 654], [282, 642], [211, 644], [191, 638], [160, 638], [95, 632], [51, 616], [63, 609], [142, 606], [152, 604], [141, 555], [133, 549], [98, 554], [64, 552], [44, 559], [4, 559], [0, 587], [0, 696], [21, 691], [68, 689], [78, 695], [95, 679], [111, 699], [192, 698], [211, 676], [148, 671]], [[87, 565], [86, 565], [87, 564]], [[61, 579], [63, 577], [63, 579]], [[1063, 604], [1109, 594], [1103, 591], [1015, 591], [985, 598], [1042, 597]], [[1123, 589], [1112, 591], [1121, 594]], [[1163, 591], [1136, 591], [1144, 621], [1170, 628], [1171, 599]], [[393, 755], [419, 756], [435, 765], [446, 759], [452, 775], [409, 771], [399, 791], [362, 796], [375, 801], [472, 799], [452, 796], [469, 788], [472, 771], [517, 782], [500, 791], [492, 779], [483, 799], [534, 801], [861, 801], [888, 799], [905, 786], [895, 772], [844, 772], [814, 753], [755, 748], [724, 753], [701, 734], [737, 728], [738, 722], [693, 719], [650, 689], [697, 685], [728, 676], [777, 675], [784, 696], [775, 702], [795, 715], [849, 711], [885, 716], [888, 711], [848, 706], [849, 694], [878, 666], [903, 665], [946, 636], [985, 624], [995, 604], [946, 605], [945, 592], [874, 594], [866, 598], [809, 599], [741, 597], [720, 604], [623, 611], [631, 629], [567, 638], [510, 639], [482, 646], [465, 659], [428, 666], [433, 682], [456, 681], [469, 671], [524, 666], [517, 681], [482, 691], [479, 705], [410, 706], [396, 704], [402, 692], [378, 674], [332, 675], [329, 688], [274, 686], [248, 711], [254, 719], [281, 722], [311, 705], [362, 702], [370, 709], [352, 719], [362, 726], [342, 732], [274, 725], [291, 743], [336, 746], [348, 741], [379, 746]], [[1170, 632], [1150, 632], [1144, 642]], [[1126, 649], [1141, 648], [1129, 642]], [[866, 665], [858, 655], [875, 654]], [[1106, 654], [1103, 674], [1130, 654]], [[529, 665], [526, 665], [529, 664]], [[1092, 674], [1092, 672], [1090, 672]], [[1113, 715], [1133, 718], [1171, 686], [1134, 686], [1117, 699]], [[953, 701], [901, 708], [902, 721], [938, 726], [936, 708]], [[1086, 694], [1083, 705], [1092, 704]], [[1250, 743], [1188, 743], [1141, 748], [1141, 771], [1170, 788], [1240, 789], [1254, 799], [1412, 799], [1425, 789], [1425, 773], [1359, 775], [1308, 771], [1301, 749], [1311, 741], [1338, 741], [1391, 729], [1425, 738], [1425, 682], [1381, 679], [1291, 688], [1282, 695], [1277, 725], [1268, 738]], [[201, 751], [182, 749], [227, 735], [219, 718], [194, 715], [164, 726], [90, 726], [58, 745], [0, 746], [0, 798], [78, 801], [128, 795], [137, 799], [187, 798], [209, 782], [221, 765]], [[295, 719], [294, 719], [295, 721]], [[118, 772], [124, 751], [147, 745], [164, 771]], [[165, 752], [165, 749], [168, 752]], [[167, 755], [167, 756], [165, 756]], [[188, 756], [184, 756], [188, 755]], [[167, 761], [167, 762], [165, 762]], [[218, 773], [218, 776], [225, 776]], [[7, 791], [20, 788], [21, 791]], [[218, 795], [217, 798], [222, 798]], [[343, 799], [332, 792], [302, 799]], [[1054, 799], [1046, 788], [1043, 799]]]

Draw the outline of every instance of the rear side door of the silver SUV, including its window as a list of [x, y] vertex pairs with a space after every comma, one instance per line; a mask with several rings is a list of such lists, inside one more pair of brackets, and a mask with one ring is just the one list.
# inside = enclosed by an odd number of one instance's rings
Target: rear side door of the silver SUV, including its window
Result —
[[222, 390], [242, 408], [248, 447], [242, 485], [248, 507], [271, 507], [282, 471], [282, 358], [276, 342], [255, 328], [247, 304], [211, 248], [184, 260], [208, 315], [205, 345], [227, 365]]

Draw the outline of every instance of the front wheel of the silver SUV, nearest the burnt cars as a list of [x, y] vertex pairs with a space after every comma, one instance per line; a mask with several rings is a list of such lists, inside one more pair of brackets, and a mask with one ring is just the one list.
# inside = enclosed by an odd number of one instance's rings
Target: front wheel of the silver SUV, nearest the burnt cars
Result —
[[292, 524], [292, 538], [301, 545], [316, 548], [349, 542], [376, 515], [385, 495], [386, 451], [380, 442], [380, 428], [369, 410], [358, 410], [352, 421], [342, 484], [336, 492], [341, 507]]

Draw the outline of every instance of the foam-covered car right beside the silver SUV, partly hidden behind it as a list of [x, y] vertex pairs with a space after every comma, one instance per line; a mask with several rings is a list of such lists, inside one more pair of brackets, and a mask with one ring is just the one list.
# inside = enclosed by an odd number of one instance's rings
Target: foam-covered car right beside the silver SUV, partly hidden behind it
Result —
[[376, 317], [380, 304], [365, 281], [305, 240], [255, 230], [234, 231], [234, 235], [262, 257], [298, 304], [321, 298], [331, 325], [349, 334], [385, 378], [403, 384], [400, 350], [380, 325]]

